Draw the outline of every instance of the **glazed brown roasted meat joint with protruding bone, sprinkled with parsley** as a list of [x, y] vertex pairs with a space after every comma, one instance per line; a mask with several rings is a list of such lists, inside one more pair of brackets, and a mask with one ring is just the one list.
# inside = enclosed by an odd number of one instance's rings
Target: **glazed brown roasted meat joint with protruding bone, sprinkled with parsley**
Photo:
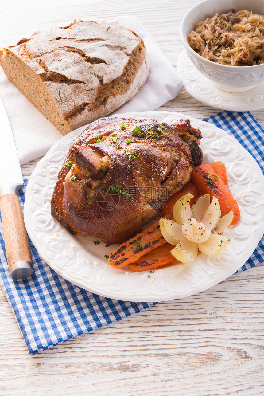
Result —
[[[107, 117], [93, 122], [69, 148], [51, 200], [51, 214], [72, 234], [122, 243], [142, 230], [200, 164], [201, 133], [189, 120]], [[190, 145], [190, 146], [189, 146]], [[193, 162], [193, 159], [194, 162]]]

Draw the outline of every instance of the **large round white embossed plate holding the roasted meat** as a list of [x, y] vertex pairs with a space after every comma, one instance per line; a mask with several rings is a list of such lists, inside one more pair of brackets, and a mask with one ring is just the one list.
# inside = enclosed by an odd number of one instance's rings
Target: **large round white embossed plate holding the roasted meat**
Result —
[[[173, 124], [189, 118], [200, 128], [204, 163], [222, 160], [229, 187], [241, 210], [239, 225], [226, 234], [231, 243], [215, 257], [199, 253], [193, 264], [177, 264], [150, 271], [113, 268], [104, 258], [117, 245], [93, 243], [97, 238], [73, 236], [51, 217], [50, 200], [57, 174], [76, 137], [73, 131], [59, 140], [38, 163], [26, 190], [24, 217], [28, 234], [40, 256], [66, 280], [93, 293], [125, 301], [168, 301], [198, 293], [233, 274], [253, 253], [264, 232], [264, 177], [253, 157], [222, 129], [183, 114], [152, 111], [117, 114], [120, 117], [154, 118]], [[148, 277], [150, 276], [150, 278]]]

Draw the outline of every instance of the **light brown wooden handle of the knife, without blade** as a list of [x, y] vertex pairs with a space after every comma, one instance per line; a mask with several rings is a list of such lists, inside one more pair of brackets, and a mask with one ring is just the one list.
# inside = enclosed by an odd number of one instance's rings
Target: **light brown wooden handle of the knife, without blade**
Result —
[[16, 262], [32, 262], [27, 231], [17, 194], [3, 195], [0, 198], [0, 209], [8, 267]]

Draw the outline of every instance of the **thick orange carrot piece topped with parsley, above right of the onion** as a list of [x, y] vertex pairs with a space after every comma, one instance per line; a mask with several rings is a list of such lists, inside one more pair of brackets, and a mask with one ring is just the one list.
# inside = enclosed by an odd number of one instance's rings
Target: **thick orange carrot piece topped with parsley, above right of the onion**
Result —
[[213, 175], [215, 175], [215, 172], [210, 165], [201, 164], [193, 169], [191, 177], [202, 194], [209, 194], [211, 198], [213, 196], [218, 198], [222, 216], [230, 210], [234, 211], [234, 219], [231, 224], [237, 224], [240, 221], [240, 210], [237, 202], [222, 179], [220, 177], [216, 179]]

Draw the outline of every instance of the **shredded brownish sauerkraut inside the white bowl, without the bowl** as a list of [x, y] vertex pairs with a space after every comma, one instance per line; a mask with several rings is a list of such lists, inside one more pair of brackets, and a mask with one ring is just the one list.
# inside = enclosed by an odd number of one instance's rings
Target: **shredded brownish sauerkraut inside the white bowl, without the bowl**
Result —
[[190, 47], [210, 61], [231, 66], [264, 63], [264, 16], [230, 10], [199, 21], [187, 34]]

